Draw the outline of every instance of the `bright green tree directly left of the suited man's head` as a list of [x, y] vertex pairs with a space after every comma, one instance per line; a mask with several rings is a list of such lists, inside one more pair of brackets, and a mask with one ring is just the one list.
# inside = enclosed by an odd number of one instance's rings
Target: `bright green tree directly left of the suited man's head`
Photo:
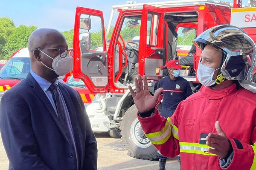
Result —
[[30, 34], [37, 29], [36, 26], [20, 25], [15, 28], [12, 34], [7, 38], [6, 45], [3, 48], [3, 59], [9, 57], [18, 49], [27, 47]]

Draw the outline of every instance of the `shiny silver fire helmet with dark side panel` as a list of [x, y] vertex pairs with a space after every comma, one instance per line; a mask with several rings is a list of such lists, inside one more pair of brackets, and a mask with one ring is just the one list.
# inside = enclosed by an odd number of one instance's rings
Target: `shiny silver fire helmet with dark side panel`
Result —
[[223, 76], [229, 80], [239, 80], [244, 88], [256, 92], [256, 83], [251, 81], [256, 45], [244, 30], [230, 25], [214, 26], [195, 38], [193, 43], [201, 49], [211, 45], [221, 51], [224, 54], [221, 65]]

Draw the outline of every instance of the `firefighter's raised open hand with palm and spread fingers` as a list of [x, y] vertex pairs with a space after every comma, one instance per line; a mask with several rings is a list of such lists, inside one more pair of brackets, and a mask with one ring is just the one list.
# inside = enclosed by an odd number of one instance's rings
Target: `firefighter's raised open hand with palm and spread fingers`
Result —
[[157, 89], [154, 96], [152, 96], [148, 91], [148, 80], [145, 75], [143, 76], [143, 82], [144, 85], [142, 83], [142, 77], [140, 75], [134, 78], [136, 94], [133, 91], [132, 87], [129, 86], [131, 96], [133, 97], [135, 105], [140, 113], [149, 111], [154, 108], [163, 90], [163, 88]]

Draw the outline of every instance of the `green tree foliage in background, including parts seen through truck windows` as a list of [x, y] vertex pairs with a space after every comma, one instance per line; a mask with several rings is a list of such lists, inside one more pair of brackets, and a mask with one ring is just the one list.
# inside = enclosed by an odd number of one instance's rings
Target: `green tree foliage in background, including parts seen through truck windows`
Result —
[[[12, 19], [9, 17], [0, 17], [0, 60], [7, 60], [12, 54], [20, 48], [27, 47], [30, 34], [37, 29], [36, 26], [15, 26]], [[107, 30], [105, 30], [106, 32]], [[189, 32], [189, 34], [182, 34], [182, 29], [178, 31], [177, 45], [192, 45], [192, 40], [195, 38], [195, 31]], [[113, 33], [113, 26], [110, 28], [110, 32], [107, 38], [111, 39]], [[66, 37], [69, 48], [73, 48], [73, 34], [74, 29], [69, 31], [62, 31], [62, 34]], [[90, 32], [91, 34], [91, 49], [95, 49], [102, 46], [102, 30]], [[140, 35], [140, 26], [135, 28], [129, 28], [125, 26], [120, 32], [124, 40], [132, 40], [135, 36]]]

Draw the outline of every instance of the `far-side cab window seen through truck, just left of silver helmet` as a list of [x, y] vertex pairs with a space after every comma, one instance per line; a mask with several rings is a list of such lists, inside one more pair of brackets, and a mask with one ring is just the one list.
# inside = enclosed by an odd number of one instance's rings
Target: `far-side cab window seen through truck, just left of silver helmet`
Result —
[[195, 47], [192, 41], [195, 39], [196, 30], [195, 28], [179, 27], [177, 30], [177, 56], [186, 57], [189, 54], [195, 53]]

